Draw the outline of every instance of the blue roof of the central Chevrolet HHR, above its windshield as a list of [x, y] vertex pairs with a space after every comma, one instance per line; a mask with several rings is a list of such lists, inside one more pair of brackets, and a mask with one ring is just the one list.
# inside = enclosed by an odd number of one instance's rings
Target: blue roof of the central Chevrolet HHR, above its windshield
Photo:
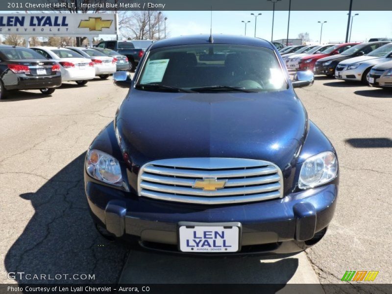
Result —
[[[275, 47], [268, 41], [245, 36], [234, 36], [234, 35], [212, 35], [213, 44], [233, 44], [233, 45], [248, 45], [265, 47], [269, 49], [275, 49]], [[191, 36], [180, 36], [169, 39], [164, 39], [151, 44], [150, 49], [157, 49], [162, 47], [170, 46], [181, 46], [181, 45], [204, 45], [210, 44], [210, 35], [191, 35]]]

